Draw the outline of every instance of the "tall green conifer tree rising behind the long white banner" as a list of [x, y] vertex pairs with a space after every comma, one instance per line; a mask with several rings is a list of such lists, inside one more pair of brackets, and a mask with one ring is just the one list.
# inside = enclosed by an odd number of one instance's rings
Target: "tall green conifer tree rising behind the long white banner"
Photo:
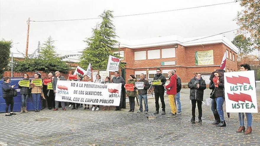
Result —
[[[113, 11], [104, 11], [99, 17], [102, 18], [102, 22], [92, 29], [92, 37], [88, 38], [84, 42], [87, 43], [87, 47], [83, 50], [80, 58], [80, 65], [82, 68], [87, 68], [91, 63], [93, 69], [106, 69], [109, 55], [119, 57], [118, 53], [114, 51], [118, 42], [114, 40], [116, 36], [115, 26], [113, 25]], [[122, 64], [120, 67], [124, 67]]]

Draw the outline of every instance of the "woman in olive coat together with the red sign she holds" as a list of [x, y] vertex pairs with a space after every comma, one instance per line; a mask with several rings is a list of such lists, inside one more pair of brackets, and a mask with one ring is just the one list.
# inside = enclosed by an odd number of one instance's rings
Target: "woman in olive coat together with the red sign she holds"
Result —
[[128, 99], [129, 99], [129, 105], [130, 105], [129, 112], [134, 112], [134, 105], [135, 105], [134, 98], [136, 95], [136, 91], [134, 89], [135, 82], [137, 82], [135, 76], [130, 75], [127, 84], [125, 84], [124, 86], [126, 88], [126, 95], [128, 95]]

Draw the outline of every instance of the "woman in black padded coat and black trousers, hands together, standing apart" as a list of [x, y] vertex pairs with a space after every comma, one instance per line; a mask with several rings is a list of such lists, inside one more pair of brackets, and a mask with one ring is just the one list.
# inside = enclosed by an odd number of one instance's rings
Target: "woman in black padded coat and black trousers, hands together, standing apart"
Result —
[[196, 72], [195, 77], [190, 80], [188, 83], [188, 87], [190, 90], [190, 100], [191, 100], [191, 112], [192, 112], [192, 118], [191, 122], [192, 124], [195, 124], [195, 108], [196, 108], [196, 102], [198, 105], [198, 111], [199, 111], [199, 124], [202, 124], [202, 101], [203, 101], [203, 94], [204, 90], [206, 89], [206, 83], [205, 80], [202, 79], [201, 74]]

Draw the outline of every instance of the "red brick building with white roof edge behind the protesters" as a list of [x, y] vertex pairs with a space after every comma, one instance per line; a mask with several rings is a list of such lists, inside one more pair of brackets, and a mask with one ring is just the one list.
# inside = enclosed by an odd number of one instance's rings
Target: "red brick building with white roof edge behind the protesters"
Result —
[[[167, 36], [137, 41], [121, 40], [120, 43], [120, 55], [124, 57], [121, 62], [126, 63], [126, 78], [133, 74], [138, 79], [144, 73], [148, 80], [152, 80], [156, 68], [160, 68], [167, 79], [168, 71], [176, 69], [183, 84], [189, 82], [194, 72], [201, 72], [202, 78], [209, 83], [211, 72], [220, 67], [225, 52], [226, 72], [237, 71], [238, 48], [222, 35], [206, 38]], [[208, 62], [196, 65], [195, 53], [201, 54], [203, 51], [212, 52], [211, 57], [206, 56]], [[203, 58], [200, 59], [203, 61]]]

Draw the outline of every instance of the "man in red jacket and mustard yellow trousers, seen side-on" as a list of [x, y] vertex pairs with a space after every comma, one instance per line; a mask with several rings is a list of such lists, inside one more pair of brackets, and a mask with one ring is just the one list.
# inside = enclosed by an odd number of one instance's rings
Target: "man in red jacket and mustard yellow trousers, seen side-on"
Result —
[[177, 117], [176, 114], [176, 107], [175, 107], [175, 103], [174, 103], [174, 97], [177, 94], [177, 75], [174, 74], [174, 71], [170, 70], [168, 72], [168, 77], [169, 77], [169, 81], [170, 83], [168, 85], [166, 85], [165, 83], [165, 89], [166, 89], [166, 94], [168, 95], [169, 98], [169, 104], [170, 104], [170, 108], [171, 108], [171, 113], [170, 115], [168, 115], [167, 117]]

